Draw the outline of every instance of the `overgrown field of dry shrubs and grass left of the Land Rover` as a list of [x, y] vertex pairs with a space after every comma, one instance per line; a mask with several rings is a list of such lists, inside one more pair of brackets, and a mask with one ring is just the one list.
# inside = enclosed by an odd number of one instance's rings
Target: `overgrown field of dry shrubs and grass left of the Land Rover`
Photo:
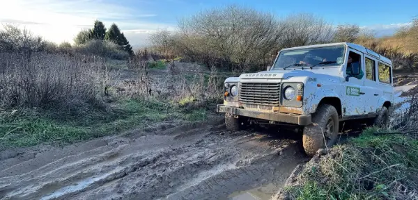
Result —
[[0, 55], [1, 149], [78, 142], [163, 121], [210, 120], [231, 75], [165, 60], [38, 53], [26, 62]]

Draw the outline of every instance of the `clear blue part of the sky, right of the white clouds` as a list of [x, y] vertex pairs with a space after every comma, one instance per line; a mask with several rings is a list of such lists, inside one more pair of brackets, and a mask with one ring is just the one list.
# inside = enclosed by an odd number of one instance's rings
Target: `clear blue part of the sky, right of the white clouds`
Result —
[[[111, 1], [111, 0], [110, 0]], [[335, 24], [350, 23], [360, 26], [376, 24], [398, 24], [410, 22], [418, 16], [418, 1], [192, 1], [192, 0], [160, 0], [160, 1], [122, 1], [125, 6], [133, 6], [139, 9], [150, 6], [146, 9], [157, 14], [152, 20], [167, 23], [176, 23], [176, 17], [192, 15], [202, 9], [217, 8], [228, 4], [237, 4], [272, 12], [277, 16], [286, 16], [294, 12], [311, 12], [320, 15], [327, 21]], [[348, 16], [350, 15], [350, 16]]]

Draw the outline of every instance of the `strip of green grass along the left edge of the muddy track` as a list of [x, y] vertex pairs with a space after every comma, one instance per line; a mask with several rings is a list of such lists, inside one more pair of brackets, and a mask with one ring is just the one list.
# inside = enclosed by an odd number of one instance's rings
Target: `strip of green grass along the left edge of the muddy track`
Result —
[[[169, 119], [201, 121], [204, 108], [183, 110], [172, 103], [121, 100], [111, 112], [88, 109], [79, 113], [51, 110], [23, 110], [0, 113], [0, 149], [33, 145], [68, 144], [116, 134], [132, 128], [146, 128]], [[65, 116], [65, 117], [62, 117]]]

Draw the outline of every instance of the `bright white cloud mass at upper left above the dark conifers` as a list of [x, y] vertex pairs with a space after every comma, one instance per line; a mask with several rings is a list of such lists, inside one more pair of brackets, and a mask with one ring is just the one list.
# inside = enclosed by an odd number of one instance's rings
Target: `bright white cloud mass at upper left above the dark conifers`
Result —
[[[125, 34], [132, 45], [137, 45], [144, 40], [141, 35], [143, 33], [155, 31], [157, 28], [170, 27], [169, 24], [147, 22], [147, 18], [156, 15], [120, 6], [117, 1], [114, 3], [102, 0], [0, 1], [1, 23], [24, 26], [36, 35], [57, 43], [72, 42], [79, 31], [91, 28], [95, 19], [100, 19], [107, 27], [111, 23], [116, 23], [122, 31], [127, 32]], [[132, 34], [129, 30], [136, 30], [141, 34], [137, 37], [138, 34]]]

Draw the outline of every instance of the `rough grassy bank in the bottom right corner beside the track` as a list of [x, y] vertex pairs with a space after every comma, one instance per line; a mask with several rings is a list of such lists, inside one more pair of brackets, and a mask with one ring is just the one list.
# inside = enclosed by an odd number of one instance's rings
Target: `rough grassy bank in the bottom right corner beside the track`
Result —
[[314, 158], [289, 199], [417, 199], [418, 140], [369, 128]]

